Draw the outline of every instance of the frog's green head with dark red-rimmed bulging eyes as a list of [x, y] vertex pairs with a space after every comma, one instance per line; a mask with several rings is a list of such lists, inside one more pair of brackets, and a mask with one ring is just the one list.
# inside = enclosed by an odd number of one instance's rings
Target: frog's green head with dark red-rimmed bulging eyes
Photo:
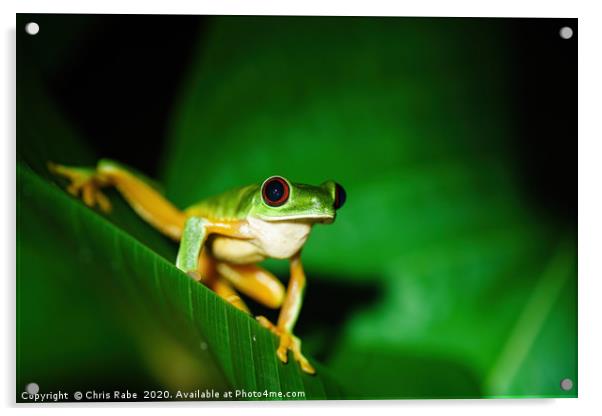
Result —
[[345, 203], [346, 194], [334, 181], [312, 186], [271, 176], [261, 184], [254, 199], [252, 214], [264, 221], [331, 223]]

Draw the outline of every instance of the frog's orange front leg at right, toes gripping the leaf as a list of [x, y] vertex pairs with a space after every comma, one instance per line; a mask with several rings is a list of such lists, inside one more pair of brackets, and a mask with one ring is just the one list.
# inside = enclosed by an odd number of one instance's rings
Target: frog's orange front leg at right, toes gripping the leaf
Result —
[[309, 374], [315, 374], [316, 370], [301, 353], [301, 341], [293, 335], [293, 327], [299, 317], [303, 292], [305, 290], [305, 272], [301, 264], [300, 253], [291, 258], [291, 277], [286, 292], [286, 297], [280, 310], [278, 324], [272, 324], [264, 316], [258, 316], [257, 320], [265, 328], [275, 333], [280, 338], [280, 344], [276, 355], [283, 363], [288, 361], [288, 351], [293, 353], [294, 359], [299, 363], [301, 369]]

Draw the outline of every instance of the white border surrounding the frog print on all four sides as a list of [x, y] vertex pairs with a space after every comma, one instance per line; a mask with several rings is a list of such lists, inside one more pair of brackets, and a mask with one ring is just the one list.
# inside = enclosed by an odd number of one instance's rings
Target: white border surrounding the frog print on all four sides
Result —
[[[488, 17], [578, 17], [579, 29], [579, 399], [556, 400], [432, 400], [432, 401], [379, 401], [379, 402], [310, 402], [310, 403], [176, 403], [171, 408], [178, 412], [198, 415], [200, 412], [240, 412], [245, 415], [303, 414], [344, 411], [350, 415], [364, 415], [371, 408], [385, 414], [440, 414], [507, 415], [519, 412], [562, 415], [589, 414], [602, 408], [600, 354], [602, 343], [599, 319], [602, 317], [602, 22], [595, 1], [420, 1], [395, 2], [370, 1], [178, 1], [178, 0], [77, 0], [1, 2], [0, 15], [4, 25], [2, 65], [0, 65], [4, 96], [0, 101], [0, 126], [3, 163], [0, 168], [4, 198], [0, 203], [3, 221], [1, 261], [3, 279], [4, 341], [0, 343], [4, 360], [4, 374], [0, 379], [0, 395], [4, 406], [11, 407], [14, 400], [14, 276], [15, 276], [15, 13], [144, 13], [144, 14], [301, 14], [301, 15], [366, 15], [366, 16], [488, 16]], [[562, 105], [562, 103], [558, 103]], [[573, 145], [569, 142], [569, 145]], [[558, 167], [562, 169], [562, 166]], [[8, 191], [8, 192], [7, 192]], [[10, 231], [8, 231], [10, 230]], [[83, 405], [48, 406], [44, 412], [80, 413]], [[86, 405], [90, 413], [130, 413], [142, 407], [147, 414], [164, 414], [166, 405], [123, 404]], [[125, 407], [122, 408], [122, 407]], [[29, 409], [26, 409], [29, 411]]]

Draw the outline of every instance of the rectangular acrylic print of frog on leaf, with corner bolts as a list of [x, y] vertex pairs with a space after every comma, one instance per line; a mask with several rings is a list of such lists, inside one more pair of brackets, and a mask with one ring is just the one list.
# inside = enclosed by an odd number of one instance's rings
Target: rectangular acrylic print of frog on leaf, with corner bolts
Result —
[[577, 396], [576, 19], [17, 22], [17, 401]]

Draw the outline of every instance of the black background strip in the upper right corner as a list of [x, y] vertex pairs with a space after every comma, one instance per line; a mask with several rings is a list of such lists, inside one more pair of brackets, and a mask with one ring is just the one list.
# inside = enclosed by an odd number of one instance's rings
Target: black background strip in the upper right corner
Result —
[[[560, 29], [573, 30], [570, 39]], [[519, 185], [538, 214], [577, 224], [577, 19], [512, 19], [514, 146]]]

